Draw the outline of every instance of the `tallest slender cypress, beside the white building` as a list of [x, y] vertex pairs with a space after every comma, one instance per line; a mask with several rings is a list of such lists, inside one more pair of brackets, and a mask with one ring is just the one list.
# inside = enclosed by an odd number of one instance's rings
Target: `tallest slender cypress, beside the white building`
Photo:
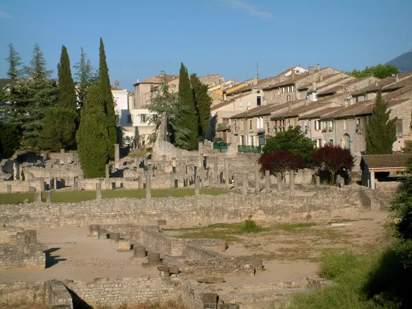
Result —
[[100, 38], [99, 84], [102, 100], [104, 102], [104, 113], [106, 113], [107, 117], [108, 155], [110, 159], [113, 159], [115, 157], [115, 144], [117, 144], [117, 122], [115, 116], [115, 102], [113, 100], [113, 93], [111, 93], [106, 53], [104, 52], [102, 38]]

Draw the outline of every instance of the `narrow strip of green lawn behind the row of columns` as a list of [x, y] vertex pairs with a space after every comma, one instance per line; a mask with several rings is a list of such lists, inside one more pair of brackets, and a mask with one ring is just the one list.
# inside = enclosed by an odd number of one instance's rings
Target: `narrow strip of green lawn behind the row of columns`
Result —
[[[229, 191], [220, 189], [201, 189], [201, 194], [218, 195], [225, 194]], [[194, 195], [194, 189], [182, 188], [182, 189], [152, 189], [152, 197], [166, 197], [170, 196], [191, 196]], [[146, 190], [108, 190], [102, 191], [102, 198], [144, 198], [146, 196]], [[19, 204], [23, 203], [26, 198], [30, 202], [34, 201], [34, 193], [13, 193], [13, 194], [0, 194], [0, 204]], [[96, 198], [95, 191], [52, 191], [53, 203], [72, 203], [80, 201], [88, 201]], [[43, 196], [45, 201], [45, 195]]]

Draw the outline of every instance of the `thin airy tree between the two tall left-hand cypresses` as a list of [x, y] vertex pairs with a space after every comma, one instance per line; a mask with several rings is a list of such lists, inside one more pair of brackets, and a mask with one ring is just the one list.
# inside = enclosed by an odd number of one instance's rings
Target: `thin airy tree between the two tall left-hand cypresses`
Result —
[[87, 54], [84, 52], [83, 48], [80, 49], [80, 61], [73, 66], [76, 69], [74, 73], [77, 88], [77, 98], [78, 98], [78, 111], [82, 111], [84, 101], [86, 100], [87, 88], [98, 80], [98, 76], [91, 65], [90, 60], [87, 59]]

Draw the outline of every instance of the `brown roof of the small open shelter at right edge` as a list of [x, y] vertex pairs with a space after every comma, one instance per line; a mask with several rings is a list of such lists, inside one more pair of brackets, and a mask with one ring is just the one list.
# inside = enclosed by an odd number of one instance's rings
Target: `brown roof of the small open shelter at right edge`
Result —
[[412, 160], [412, 154], [397, 153], [392, 155], [363, 155], [361, 166], [368, 168], [407, 168]]

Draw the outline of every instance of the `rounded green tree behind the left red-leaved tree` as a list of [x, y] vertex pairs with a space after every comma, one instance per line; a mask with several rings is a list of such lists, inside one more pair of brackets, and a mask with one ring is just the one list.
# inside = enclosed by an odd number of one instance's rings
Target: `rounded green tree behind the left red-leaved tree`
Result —
[[277, 150], [288, 151], [292, 155], [304, 159], [309, 163], [314, 153], [314, 141], [302, 132], [300, 126], [289, 126], [288, 130], [279, 132], [271, 139], [268, 139], [263, 146], [263, 152], [276, 152]]

